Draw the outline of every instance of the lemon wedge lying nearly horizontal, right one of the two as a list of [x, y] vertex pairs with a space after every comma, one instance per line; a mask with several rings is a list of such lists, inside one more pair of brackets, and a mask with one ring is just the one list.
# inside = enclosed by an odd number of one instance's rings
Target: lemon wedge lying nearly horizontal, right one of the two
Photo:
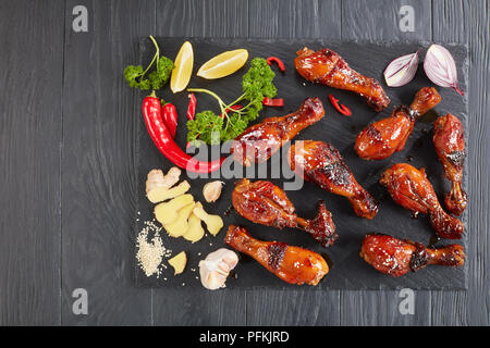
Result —
[[204, 63], [199, 67], [197, 76], [215, 79], [231, 75], [241, 69], [247, 59], [248, 51], [245, 49], [223, 52]]

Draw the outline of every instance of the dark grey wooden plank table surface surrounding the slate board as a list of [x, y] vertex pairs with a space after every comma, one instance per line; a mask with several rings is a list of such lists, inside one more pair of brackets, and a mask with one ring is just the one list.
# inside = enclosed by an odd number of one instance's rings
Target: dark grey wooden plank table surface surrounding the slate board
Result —
[[[414, 32], [399, 26], [415, 10]], [[73, 9], [88, 10], [88, 33]], [[488, 325], [486, 0], [0, 1], [0, 324]], [[466, 291], [199, 291], [134, 286], [138, 39], [280, 37], [465, 42], [470, 51]], [[75, 315], [73, 291], [88, 294]]]

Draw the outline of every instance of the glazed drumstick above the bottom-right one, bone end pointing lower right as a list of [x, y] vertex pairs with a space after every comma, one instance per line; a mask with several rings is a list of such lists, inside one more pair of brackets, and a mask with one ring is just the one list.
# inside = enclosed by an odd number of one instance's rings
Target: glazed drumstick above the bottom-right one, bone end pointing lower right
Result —
[[449, 239], [462, 237], [463, 223], [441, 208], [424, 169], [417, 170], [407, 163], [394, 164], [382, 174], [380, 183], [403, 208], [415, 214], [428, 214], [430, 224], [440, 237]]

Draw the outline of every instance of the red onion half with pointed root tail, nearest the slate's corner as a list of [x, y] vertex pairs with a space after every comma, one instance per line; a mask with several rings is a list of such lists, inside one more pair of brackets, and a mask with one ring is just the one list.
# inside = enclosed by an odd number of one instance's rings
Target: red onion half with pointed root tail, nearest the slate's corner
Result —
[[452, 87], [460, 95], [464, 96], [464, 91], [460, 89], [457, 83], [457, 71], [454, 59], [444, 47], [432, 45], [429, 47], [424, 60], [424, 71], [427, 77], [438, 86]]

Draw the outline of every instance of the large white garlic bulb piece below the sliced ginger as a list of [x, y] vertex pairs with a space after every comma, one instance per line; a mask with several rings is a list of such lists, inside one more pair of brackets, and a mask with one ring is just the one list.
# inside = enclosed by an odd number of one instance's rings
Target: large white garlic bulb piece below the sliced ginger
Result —
[[210, 290], [225, 287], [230, 271], [238, 263], [238, 256], [229, 249], [221, 248], [209, 253], [199, 261], [199, 275], [203, 286]]

